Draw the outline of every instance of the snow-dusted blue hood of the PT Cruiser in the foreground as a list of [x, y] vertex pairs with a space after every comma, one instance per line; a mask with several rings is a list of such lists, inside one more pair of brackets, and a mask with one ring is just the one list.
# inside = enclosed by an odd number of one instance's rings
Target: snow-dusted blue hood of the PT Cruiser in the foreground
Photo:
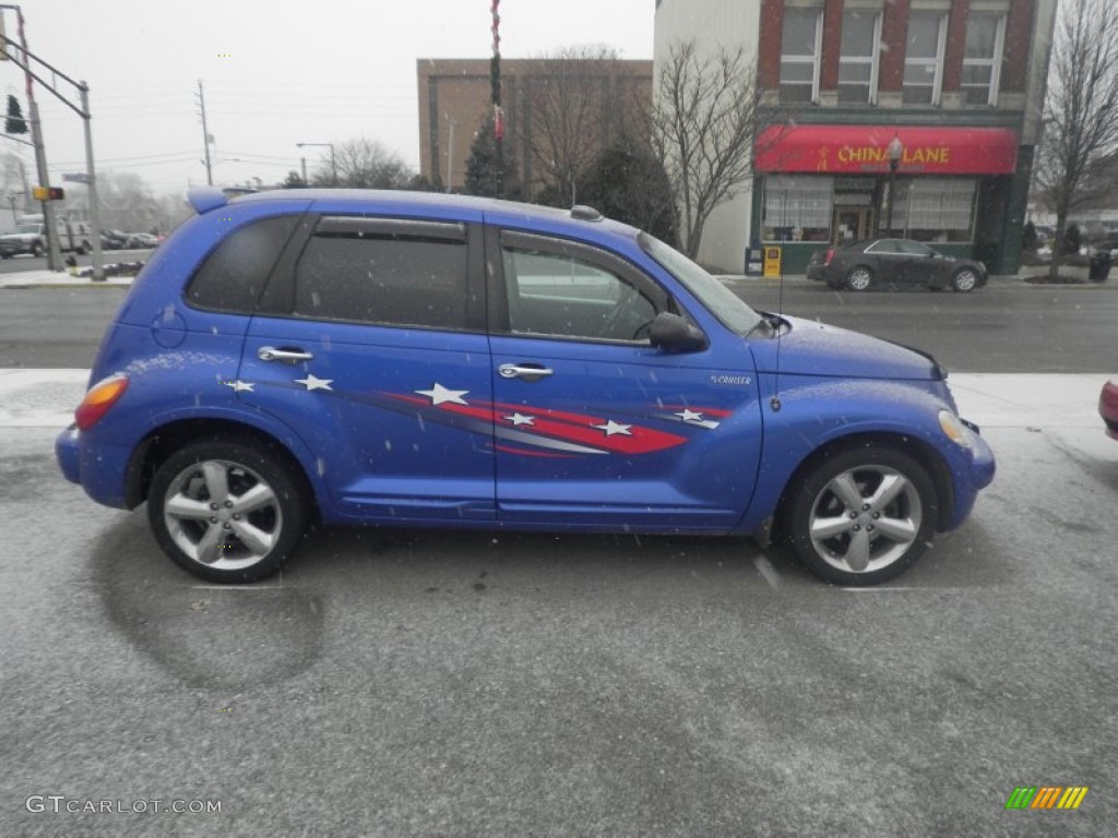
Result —
[[750, 339], [758, 372], [858, 379], [947, 377], [931, 355], [825, 323], [781, 315], [779, 337]]

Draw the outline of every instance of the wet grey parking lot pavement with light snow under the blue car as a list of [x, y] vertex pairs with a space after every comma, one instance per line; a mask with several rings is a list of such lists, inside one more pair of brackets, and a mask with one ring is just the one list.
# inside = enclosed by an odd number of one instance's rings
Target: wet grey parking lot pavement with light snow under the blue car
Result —
[[953, 374], [998, 476], [879, 588], [737, 539], [371, 530], [217, 588], [59, 477], [84, 371], [0, 371], [0, 835], [1105, 835], [1103, 378]]

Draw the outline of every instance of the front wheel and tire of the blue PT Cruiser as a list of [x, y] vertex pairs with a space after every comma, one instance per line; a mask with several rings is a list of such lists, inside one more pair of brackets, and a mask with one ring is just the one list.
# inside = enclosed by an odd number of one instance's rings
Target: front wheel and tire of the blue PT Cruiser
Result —
[[861, 587], [892, 579], [912, 566], [935, 533], [935, 485], [902, 451], [840, 450], [797, 482], [784, 507], [785, 534], [808, 570], [828, 582]]

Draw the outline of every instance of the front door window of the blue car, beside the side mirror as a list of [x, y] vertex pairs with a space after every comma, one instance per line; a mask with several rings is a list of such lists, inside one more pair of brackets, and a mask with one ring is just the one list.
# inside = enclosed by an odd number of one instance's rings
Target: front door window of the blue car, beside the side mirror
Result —
[[647, 340], [656, 305], [617, 273], [571, 254], [510, 245], [502, 258], [512, 333]]

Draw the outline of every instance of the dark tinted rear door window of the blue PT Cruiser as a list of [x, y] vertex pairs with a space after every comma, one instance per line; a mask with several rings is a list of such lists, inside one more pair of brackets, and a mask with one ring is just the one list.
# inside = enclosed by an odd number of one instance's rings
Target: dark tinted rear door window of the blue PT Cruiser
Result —
[[295, 267], [295, 314], [463, 330], [466, 279], [459, 225], [328, 218]]

